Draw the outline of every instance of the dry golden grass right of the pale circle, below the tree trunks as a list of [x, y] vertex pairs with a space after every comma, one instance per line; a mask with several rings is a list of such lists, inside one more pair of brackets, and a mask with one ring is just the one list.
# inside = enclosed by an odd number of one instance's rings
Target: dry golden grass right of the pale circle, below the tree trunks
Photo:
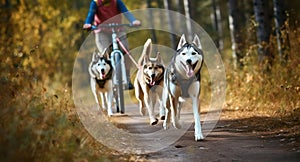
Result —
[[246, 131], [258, 135], [294, 139], [287, 141], [293, 147], [300, 147], [300, 59], [299, 28], [290, 30], [290, 49], [286, 63], [279, 61], [275, 38], [270, 46], [274, 59], [267, 71], [257, 64], [257, 46], [247, 49], [244, 66], [231, 69], [227, 66], [227, 102], [223, 120], [237, 120], [232, 127], [247, 126]]

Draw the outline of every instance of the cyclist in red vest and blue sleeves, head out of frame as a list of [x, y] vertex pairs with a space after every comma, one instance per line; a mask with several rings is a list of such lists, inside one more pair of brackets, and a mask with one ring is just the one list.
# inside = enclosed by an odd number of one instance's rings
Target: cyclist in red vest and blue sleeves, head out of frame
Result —
[[[130, 12], [128, 12], [127, 7], [122, 2], [122, 0], [92, 0], [90, 3], [90, 9], [87, 14], [85, 23], [83, 25], [84, 29], [90, 29], [92, 27], [92, 23], [96, 26], [99, 24], [109, 24], [109, 23], [122, 23], [121, 13], [124, 13], [126, 19], [132, 24], [139, 26], [141, 22], [137, 20]], [[128, 49], [128, 41], [126, 37], [126, 33], [120, 27], [117, 29], [118, 37], [121, 42]], [[111, 40], [111, 30], [110, 29], [96, 29], [95, 33], [95, 41], [98, 50], [101, 54], [104, 54], [107, 48], [110, 46]], [[125, 67], [126, 74], [128, 80], [128, 89], [133, 89], [133, 85], [130, 81], [130, 59], [128, 56], [125, 58]]]

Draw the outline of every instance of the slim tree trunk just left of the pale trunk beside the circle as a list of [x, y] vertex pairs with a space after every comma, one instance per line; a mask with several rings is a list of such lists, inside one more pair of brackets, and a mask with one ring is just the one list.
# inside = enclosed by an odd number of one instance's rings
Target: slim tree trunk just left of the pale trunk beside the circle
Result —
[[223, 30], [222, 30], [222, 18], [218, 0], [212, 0], [212, 23], [217, 37], [215, 43], [219, 51], [223, 51]]

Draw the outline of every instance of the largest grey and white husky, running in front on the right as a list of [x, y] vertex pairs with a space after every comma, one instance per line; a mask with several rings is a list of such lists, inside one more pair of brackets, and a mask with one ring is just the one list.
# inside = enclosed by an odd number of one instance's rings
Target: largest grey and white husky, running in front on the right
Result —
[[199, 115], [200, 70], [203, 64], [203, 51], [200, 40], [196, 35], [192, 43], [187, 43], [182, 35], [176, 54], [164, 74], [163, 104], [166, 108], [164, 129], [168, 129], [170, 120], [177, 129], [180, 109], [184, 98], [192, 99], [195, 120], [195, 140], [204, 139]]

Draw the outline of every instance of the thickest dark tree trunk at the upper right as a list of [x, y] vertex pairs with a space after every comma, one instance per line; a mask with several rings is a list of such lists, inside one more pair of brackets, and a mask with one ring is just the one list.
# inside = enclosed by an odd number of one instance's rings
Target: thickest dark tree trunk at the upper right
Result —
[[259, 42], [258, 61], [262, 63], [267, 58], [271, 61], [269, 39], [271, 34], [271, 19], [268, 0], [253, 0], [255, 20], [257, 26], [257, 39]]

